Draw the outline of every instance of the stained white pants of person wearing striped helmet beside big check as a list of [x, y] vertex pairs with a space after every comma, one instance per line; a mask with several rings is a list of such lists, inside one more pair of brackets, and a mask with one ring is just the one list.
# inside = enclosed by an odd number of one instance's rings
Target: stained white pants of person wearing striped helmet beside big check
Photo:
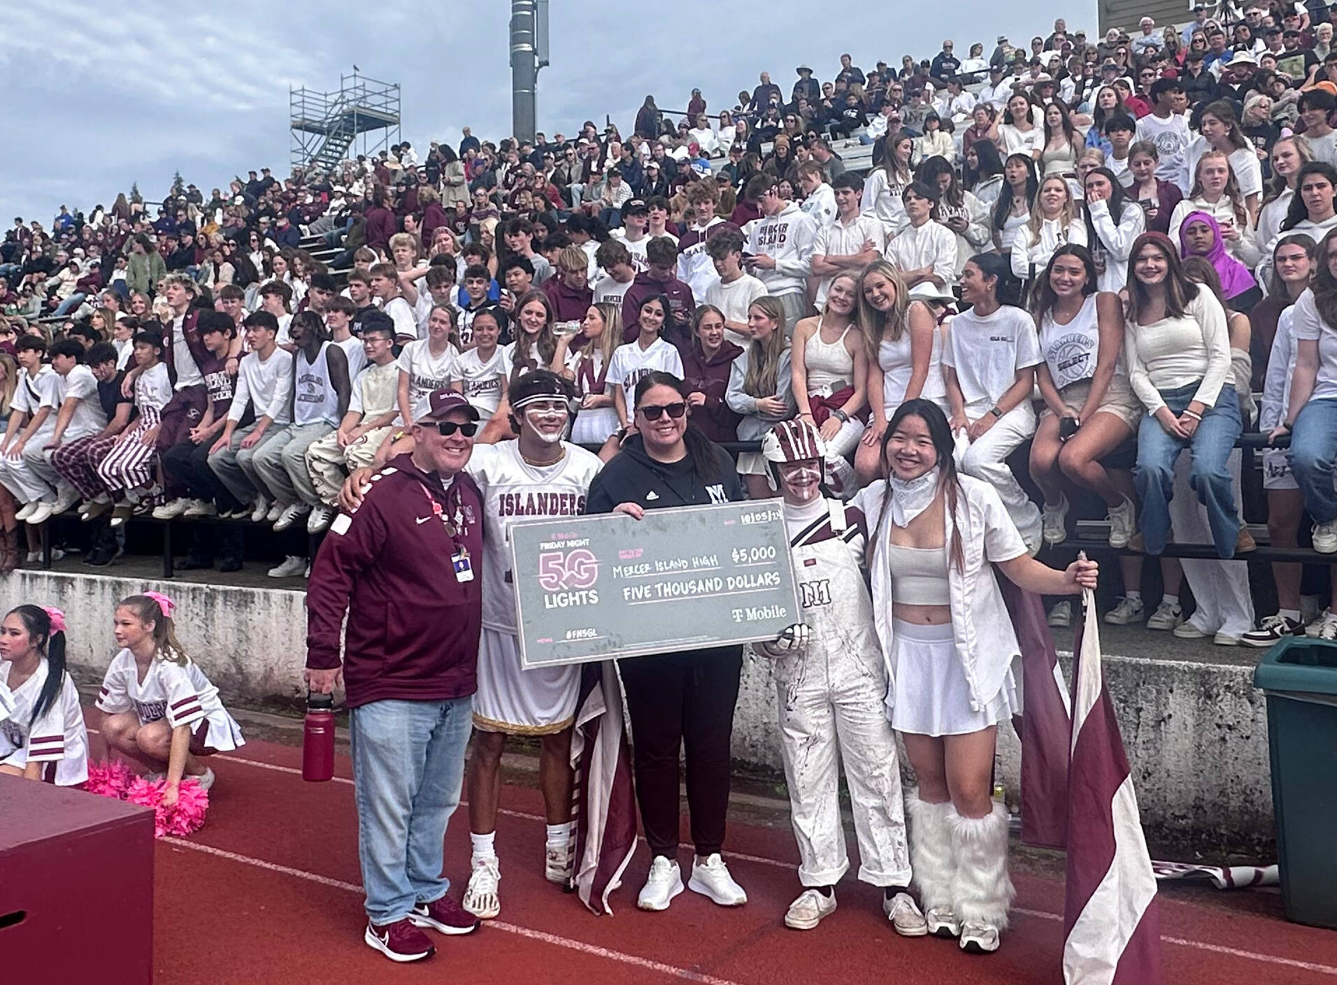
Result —
[[849, 870], [840, 817], [844, 762], [858, 878], [874, 886], [906, 886], [910, 858], [900, 760], [882, 711], [886, 671], [881, 654], [852, 651], [844, 639], [837, 634], [828, 642], [814, 634], [804, 652], [774, 662], [798, 879], [805, 886], [832, 886]]

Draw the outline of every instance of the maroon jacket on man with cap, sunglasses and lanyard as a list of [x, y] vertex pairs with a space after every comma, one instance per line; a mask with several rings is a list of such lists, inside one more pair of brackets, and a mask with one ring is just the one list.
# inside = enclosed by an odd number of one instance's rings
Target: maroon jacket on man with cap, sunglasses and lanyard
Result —
[[[436, 513], [460, 517], [455, 541]], [[468, 549], [473, 580], [452, 553]], [[384, 700], [449, 700], [477, 690], [483, 628], [483, 497], [463, 472], [444, 489], [401, 454], [376, 474], [352, 515], [330, 525], [306, 589], [306, 666], [340, 666], [348, 707]]]

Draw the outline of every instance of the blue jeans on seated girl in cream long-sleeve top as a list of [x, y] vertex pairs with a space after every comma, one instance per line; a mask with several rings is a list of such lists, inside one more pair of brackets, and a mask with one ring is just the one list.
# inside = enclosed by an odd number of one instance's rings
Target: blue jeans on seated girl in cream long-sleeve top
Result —
[[[1197, 392], [1198, 385], [1193, 384], [1177, 390], [1161, 390], [1161, 398], [1178, 417]], [[1217, 545], [1217, 556], [1225, 559], [1235, 556], [1239, 515], [1235, 511], [1234, 485], [1226, 464], [1241, 430], [1243, 425], [1239, 421], [1239, 400], [1229, 384], [1221, 388], [1217, 405], [1203, 412], [1202, 424], [1190, 441], [1174, 437], [1150, 414], [1142, 418], [1138, 428], [1138, 464], [1132, 469], [1132, 480], [1142, 501], [1139, 527], [1148, 555], [1162, 553], [1170, 539], [1174, 464], [1179, 452], [1189, 446], [1193, 453], [1189, 486], [1198, 493], [1198, 501], [1207, 508], [1207, 523]]]

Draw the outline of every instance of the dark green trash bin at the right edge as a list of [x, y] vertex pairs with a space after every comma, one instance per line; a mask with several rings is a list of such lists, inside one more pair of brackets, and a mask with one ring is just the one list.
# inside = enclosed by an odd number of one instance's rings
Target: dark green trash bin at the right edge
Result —
[[1286, 920], [1337, 929], [1337, 643], [1290, 638], [1263, 656], [1271, 807]]

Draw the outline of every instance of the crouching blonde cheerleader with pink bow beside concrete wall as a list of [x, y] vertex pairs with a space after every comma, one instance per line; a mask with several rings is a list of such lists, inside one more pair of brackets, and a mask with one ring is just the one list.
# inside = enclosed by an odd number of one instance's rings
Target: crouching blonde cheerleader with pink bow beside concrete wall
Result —
[[124, 648], [111, 659], [98, 694], [107, 747], [163, 774], [167, 806], [176, 802], [183, 779], [205, 790], [214, 786], [203, 756], [246, 744], [218, 688], [176, 639], [175, 608], [160, 592], [120, 600], [114, 635]]

